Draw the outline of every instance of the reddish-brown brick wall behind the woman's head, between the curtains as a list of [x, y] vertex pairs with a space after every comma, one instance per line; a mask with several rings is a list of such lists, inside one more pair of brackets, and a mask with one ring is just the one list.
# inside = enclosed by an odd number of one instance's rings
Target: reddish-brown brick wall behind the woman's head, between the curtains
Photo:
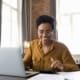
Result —
[[42, 14], [50, 15], [50, 0], [32, 0], [31, 40], [37, 38], [35, 21]]

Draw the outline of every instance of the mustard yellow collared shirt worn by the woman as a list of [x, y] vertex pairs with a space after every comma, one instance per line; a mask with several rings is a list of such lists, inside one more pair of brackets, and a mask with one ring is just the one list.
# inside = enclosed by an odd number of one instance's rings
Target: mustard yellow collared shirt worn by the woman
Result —
[[25, 67], [31, 66], [35, 71], [50, 70], [50, 58], [60, 60], [64, 65], [64, 71], [79, 70], [68, 48], [57, 41], [53, 41], [53, 44], [47, 54], [44, 54], [39, 39], [31, 41], [30, 47], [27, 49], [23, 58], [23, 62]]

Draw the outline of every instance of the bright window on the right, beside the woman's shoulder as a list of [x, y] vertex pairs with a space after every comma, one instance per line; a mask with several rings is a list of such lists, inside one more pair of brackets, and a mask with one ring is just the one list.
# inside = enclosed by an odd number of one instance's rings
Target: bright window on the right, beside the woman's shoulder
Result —
[[80, 54], [80, 0], [56, 0], [58, 40]]

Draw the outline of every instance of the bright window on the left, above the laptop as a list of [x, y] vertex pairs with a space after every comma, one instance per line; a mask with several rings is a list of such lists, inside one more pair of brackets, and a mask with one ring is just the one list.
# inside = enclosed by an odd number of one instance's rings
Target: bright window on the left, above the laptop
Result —
[[21, 0], [2, 1], [1, 47], [21, 45]]

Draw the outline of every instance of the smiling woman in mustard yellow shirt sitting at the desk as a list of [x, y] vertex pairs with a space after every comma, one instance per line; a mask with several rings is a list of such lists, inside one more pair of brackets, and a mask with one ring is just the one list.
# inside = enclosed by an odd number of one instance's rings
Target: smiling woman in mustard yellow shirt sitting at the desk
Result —
[[79, 70], [68, 48], [54, 37], [54, 18], [39, 16], [36, 20], [38, 39], [30, 42], [23, 58], [25, 67], [35, 71], [75, 71]]

